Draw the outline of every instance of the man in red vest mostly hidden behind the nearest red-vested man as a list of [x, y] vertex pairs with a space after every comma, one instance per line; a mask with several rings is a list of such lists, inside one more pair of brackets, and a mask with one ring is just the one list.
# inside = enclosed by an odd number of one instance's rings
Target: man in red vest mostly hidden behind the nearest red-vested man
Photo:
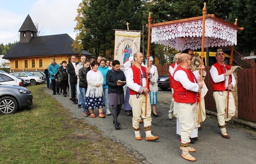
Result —
[[[170, 76], [169, 83], [170, 83], [170, 88], [172, 89], [172, 94], [173, 94], [173, 85], [172, 85], [173, 72], [177, 68], [177, 66], [179, 65], [179, 61], [178, 61], [179, 55], [180, 55], [179, 53], [175, 54], [175, 56], [174, 56], [175, 63], [173, 63], [169, 66], [169, 76]], [[168, 114], [168, 117], [170, 119], [172, 119], [173, 104], [174, 104], [174, 98], [172, 98], [172, 102], [171, 102], [170, 110], [169, 110], [169, 114]]]

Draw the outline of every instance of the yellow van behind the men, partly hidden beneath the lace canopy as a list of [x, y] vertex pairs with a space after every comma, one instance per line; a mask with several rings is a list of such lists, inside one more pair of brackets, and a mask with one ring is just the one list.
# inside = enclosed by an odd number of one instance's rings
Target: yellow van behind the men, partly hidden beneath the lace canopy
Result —
[[[197, 51], [195, 51], [194, 53], [196, 53]], [[201, 51], [200, 52], [197, 52], [200, 57], [201, 57]], [[230, 60], [230, 56], [227, 55], [225, 53], [225, 64], [229, 65], [229, 60]], [[206, 59], [206, 52], [204, 52], [204, 58], [203, 58], [203, 62], [204, 62], [204, 65], [207, 66], [207, 59]], [[213, 64], [215, 64], [217, 62], [216, 60], [216, 52], [209, 52], [209, 66], [212, 66]], [[173, 62], [174, 63], [174, 59], [173, 59]], [[232, 66], [237, 66], [239, 65], [236, 61], [234, 61], [233, 59], [233, 62], [232, 62]]]

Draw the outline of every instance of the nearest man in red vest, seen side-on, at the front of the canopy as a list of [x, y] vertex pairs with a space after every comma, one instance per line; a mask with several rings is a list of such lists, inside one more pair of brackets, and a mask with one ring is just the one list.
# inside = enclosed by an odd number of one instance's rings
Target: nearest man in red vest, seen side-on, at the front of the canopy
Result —
[[200, 76], [195, 77], [193, 72], [188, 69], [191, 64], [191, 57], [182, 53], [179, 56], [179, 66], [173, 73], [173, 88], [174, 93], [174, 116], [179, 117], [179, 124], [182, 127], [181, 130], [181, 147], [182, 157], [188, 161], [196, 161], [190, 152], [196, 151], [196, 149], [189, 147], [189, 137], [193, 129], [195, 128], [195, 113], [196, 105], [199, 98], [199, 90], [203, 87], [200, 80]]

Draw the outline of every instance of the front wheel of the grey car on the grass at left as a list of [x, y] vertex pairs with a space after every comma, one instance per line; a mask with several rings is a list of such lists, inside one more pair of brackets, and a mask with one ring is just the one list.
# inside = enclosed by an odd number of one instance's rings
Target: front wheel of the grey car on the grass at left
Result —
[[0, 114], [13, 114], [18, 109], [18, 102], [15, 98], [4, 96], [0, 98]]

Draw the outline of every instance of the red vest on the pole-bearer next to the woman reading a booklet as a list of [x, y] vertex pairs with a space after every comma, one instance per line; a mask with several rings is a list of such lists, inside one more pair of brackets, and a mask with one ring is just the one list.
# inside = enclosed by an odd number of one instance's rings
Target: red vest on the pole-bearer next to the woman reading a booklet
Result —
[[[135, 65], [133, 65], [133, 66], [131, 66], [131, 69], [132, 69], [132, 72], [133, 72], [133, 82], [142, 86], [142, 76], [141, 76], [140, 68], [138, 68]], [[147, 76], [146, 68], [141, 66], [141, 70], [142, 70], [144, 76], [146, 77]], [[147, 82], [147, 88], [149, 90], [148, 92], [150, 92], [149, 84], [150, 84], [150, 80], [148, 79], [148, 82]], [[139, 94], [138, 92], [135, 92], [135, 91], [133, 91], [130, 88], [129, 88], [129, 91], [130, 91], [130, 95], [137, 95], [137, 94]]]

